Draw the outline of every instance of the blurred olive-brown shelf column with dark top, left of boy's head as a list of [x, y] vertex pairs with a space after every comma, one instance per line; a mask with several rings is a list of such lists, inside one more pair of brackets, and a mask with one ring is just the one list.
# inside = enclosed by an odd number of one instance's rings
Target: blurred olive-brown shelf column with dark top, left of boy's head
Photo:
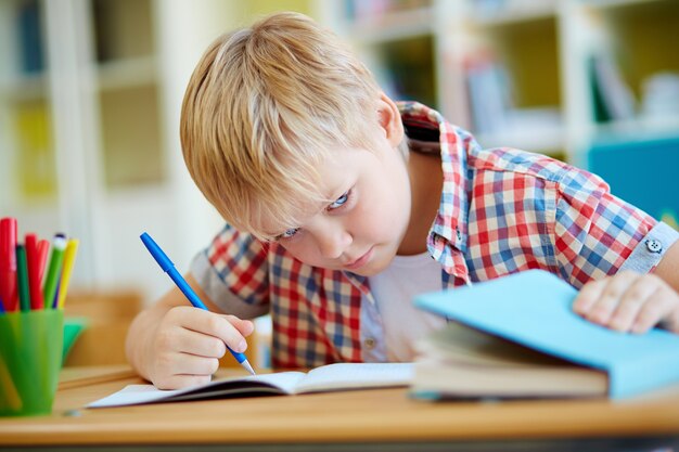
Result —
[[165, 180], [151, 8], [149, 0], [92, 1], [107, 189]]

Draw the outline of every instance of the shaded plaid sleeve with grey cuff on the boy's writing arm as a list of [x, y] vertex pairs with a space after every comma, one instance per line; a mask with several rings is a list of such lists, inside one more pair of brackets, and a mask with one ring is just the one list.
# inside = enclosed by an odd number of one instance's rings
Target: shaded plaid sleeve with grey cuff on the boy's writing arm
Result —
[[241, 319], [269, 311], [268, 248], [231, 225], [191, 262], [191, 274], [219, 309]]

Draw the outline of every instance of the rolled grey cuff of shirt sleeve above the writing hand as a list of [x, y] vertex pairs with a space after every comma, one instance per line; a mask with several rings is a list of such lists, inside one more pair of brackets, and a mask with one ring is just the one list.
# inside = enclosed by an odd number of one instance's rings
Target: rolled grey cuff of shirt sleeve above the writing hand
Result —
[[240, 319], [254, 319], [269, 312], [268, 306], [248, 305], [233, 294], [213, 268], [205, 250], [193, 258], [189, 271], [221, 312]]

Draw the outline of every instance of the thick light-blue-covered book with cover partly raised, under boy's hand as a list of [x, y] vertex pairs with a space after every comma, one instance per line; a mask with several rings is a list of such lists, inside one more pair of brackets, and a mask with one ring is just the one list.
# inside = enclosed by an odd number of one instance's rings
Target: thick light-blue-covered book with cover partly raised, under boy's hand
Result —
[[529, 270], [415, 297], [453, 323], [418, 345], [412, 395], [619, 399], [679, 382], [679, 335], [597, 325], [573, 311], [576, 295]]

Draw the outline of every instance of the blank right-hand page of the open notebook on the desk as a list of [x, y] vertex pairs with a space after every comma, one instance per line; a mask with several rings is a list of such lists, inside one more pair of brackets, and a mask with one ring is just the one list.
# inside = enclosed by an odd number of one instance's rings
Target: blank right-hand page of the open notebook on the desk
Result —
[[412, 376], [412, 363], [329, 364], [309, 371], [295, 392], [408, 386]]

